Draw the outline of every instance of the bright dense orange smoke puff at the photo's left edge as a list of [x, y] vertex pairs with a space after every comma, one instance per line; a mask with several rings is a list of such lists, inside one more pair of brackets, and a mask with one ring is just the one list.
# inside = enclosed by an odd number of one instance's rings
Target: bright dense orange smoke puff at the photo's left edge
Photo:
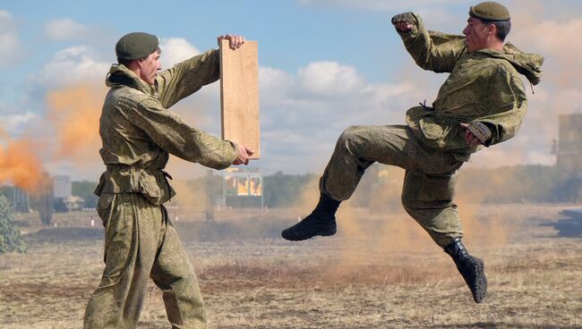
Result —
[[33, 192], [39, 189], [41, 160], [29, 139], [13, 140], [0, 130], [0, 182], [12, 181], [17, 187]]

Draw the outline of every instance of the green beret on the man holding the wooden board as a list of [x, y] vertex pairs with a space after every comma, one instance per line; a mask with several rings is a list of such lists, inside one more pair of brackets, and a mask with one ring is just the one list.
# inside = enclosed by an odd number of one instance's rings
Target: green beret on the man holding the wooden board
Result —
[[124, 35], [116, 43], [117, 60], [133, 61], [149, 56], [158, 49], [159, 38], [143, 32]]

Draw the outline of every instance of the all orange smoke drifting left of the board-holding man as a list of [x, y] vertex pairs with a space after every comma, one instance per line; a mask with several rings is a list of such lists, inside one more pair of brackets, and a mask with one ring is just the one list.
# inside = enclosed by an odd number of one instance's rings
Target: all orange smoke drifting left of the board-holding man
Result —
[[[56, 136], [43, 139], [12, 139], [0, 130], [0, 182], [12, 181], [14, 185], [35, 192], [42, 178], [43, 158], [40, 145], [55, 146], [54, 154], [44, 160], [63, 159], [77, 163], [97, 161], [100, 139], [98, 120], [105, 89], [91, 85], [67, 87], [47, 94], [47, 122]], [[39, 135], [38, 133], [30, 135]]]

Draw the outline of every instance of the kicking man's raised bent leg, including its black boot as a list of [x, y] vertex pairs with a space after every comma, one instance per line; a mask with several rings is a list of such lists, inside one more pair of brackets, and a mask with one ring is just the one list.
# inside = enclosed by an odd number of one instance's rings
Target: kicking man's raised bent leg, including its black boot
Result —
[[[283, 231], [283, 238], [304, 240], [335, 233], [339, 202], [352, 195], [365, 169], [376, 161], [428, 173], [444, 173], [460, 166], [451, 154], [424, 147], [407, 126], [352, 126], [339, 136], [321, 176], [320, 203], [311, 215]], [[325, 214], [326, 208], [330, 214]]]

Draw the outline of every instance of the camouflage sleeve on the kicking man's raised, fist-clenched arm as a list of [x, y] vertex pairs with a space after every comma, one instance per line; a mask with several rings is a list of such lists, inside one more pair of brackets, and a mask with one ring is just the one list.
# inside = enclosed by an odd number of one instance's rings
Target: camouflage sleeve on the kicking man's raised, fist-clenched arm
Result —
[[398, 32], [408, 53], [424, 70], [452, 72], [466, 49], [465, 37], [426, 30], [420, 16], [415, 14], [415, 18], [412, 31]]

